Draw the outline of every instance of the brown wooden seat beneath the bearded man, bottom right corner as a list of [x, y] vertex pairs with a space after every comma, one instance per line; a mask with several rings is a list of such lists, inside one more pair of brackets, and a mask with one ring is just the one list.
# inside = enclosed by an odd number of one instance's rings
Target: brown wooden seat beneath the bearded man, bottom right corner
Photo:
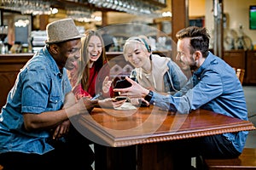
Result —
[[241, 156], [234, 159], [205, 159], [207, 170], [256, 169], [256, 148], [244, 148]]

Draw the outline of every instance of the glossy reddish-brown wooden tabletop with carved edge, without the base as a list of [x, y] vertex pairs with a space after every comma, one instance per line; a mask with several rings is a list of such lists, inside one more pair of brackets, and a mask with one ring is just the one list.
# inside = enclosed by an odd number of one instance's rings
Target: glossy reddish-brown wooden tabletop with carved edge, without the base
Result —
[[79, 125], [90, 139], [113, 147], [255, 129], [252, 122], [212, 111], [173, 114], [152, 105], [131, 111], [94, 108], [79, 118]]

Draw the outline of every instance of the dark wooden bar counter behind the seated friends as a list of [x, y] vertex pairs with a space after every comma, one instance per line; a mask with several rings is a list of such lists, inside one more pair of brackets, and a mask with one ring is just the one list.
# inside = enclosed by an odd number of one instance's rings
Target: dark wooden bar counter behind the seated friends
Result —
[[[171, 52], [154, 52], [160, 56], [171, 57]], [[119, 77], [129, 76], [133, 68], [128, 61], [125, 61], [122, 52], [107, 52], [109, 64], [113, 68], [113, 78], [119, 74]], [[0, 109], [6, 102], [9, 90], [13, 87], [15, 79], [20, 69], [31, 59], [32, 53], [28, 54], [0, 54]], [[115, 82], [114, 80], [113, 82]]]

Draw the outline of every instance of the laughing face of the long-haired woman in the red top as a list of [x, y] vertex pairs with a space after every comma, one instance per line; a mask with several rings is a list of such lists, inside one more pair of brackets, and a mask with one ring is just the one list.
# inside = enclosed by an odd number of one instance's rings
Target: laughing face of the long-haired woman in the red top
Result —
[[102, 54], [102, 42], [97, 36], [90, 37], [87, 48], [90, 62], [95, 62]]

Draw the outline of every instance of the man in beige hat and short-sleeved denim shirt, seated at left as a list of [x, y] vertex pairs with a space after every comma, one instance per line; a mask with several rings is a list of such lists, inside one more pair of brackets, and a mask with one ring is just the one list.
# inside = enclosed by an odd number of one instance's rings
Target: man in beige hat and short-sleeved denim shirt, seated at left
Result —
[[93, 152], [69, 121], [97, 103], [76, 102], [67, 78], [80, 57], [83, 35], [71, 19], [49, 23], [46, 31], [44, 48], [20, 70], [0, 112], [0, 165], [4, 170], [92, 169]]

